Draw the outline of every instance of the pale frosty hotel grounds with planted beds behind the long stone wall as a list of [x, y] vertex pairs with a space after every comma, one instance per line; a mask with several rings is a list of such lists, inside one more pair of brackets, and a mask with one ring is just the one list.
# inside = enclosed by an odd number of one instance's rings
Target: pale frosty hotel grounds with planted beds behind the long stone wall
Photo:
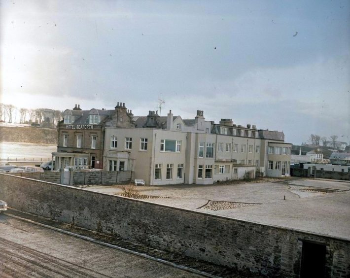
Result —
[[[122, 193], [120, 185], [84, 189], [112, 195]], [[141, 195], [154, 196], [141, 199], [143, 202], [350, 239], [350, 181], [291, 178], [136, 189]]]

